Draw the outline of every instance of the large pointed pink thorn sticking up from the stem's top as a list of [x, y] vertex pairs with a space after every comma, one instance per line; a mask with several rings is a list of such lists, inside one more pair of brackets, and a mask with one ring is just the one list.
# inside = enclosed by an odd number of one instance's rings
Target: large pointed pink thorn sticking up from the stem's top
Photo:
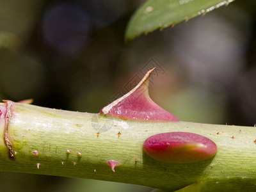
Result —
[[148, 95], [149, 77], [154, 69], [149, 70], [129, 93], [102, 108], [100, 114], [129, 120], [179, 122], [176, 116], [158, 106]]

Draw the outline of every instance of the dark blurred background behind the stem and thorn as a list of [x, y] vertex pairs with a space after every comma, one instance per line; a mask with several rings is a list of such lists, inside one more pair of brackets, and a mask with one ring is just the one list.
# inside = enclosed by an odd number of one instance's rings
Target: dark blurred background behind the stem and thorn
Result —
[[[256, 124], [256, 3], [235, 1], [125, 44], [143, 1], [0, 0], [0, 99], [99, 112], [157, 67], [152, 99], [182, 121]], [[1, 191], [150, 191], [0, 173]]]

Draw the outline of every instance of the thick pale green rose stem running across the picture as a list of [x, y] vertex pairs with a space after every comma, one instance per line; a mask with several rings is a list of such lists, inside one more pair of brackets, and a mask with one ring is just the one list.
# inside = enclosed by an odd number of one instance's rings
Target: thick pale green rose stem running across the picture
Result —
[[[17, 154], [15, 161], [8, 158], [8, 148], [1, 137], [0, 170], [110, 180], [171, 190], [209, 181], [212, 186], [219, 182], [242, 182], [246, 183], [245, 188], [255, 188], [255, 127], [115, 118], [109, 119], [113, 122], [111, 129], [97, 137], [92, 126], [93, 115], [13, 103], [8, 133]], [[100, 118], [99, 124], [107, 119]], [[0, 130], [3, 135], [3, 121]], [[199, 163], [169, 164], [143, 152], [143, 142], [149, 136], [173, 131], [206, 136], [218, 146], [216, 156]], [[33, 155], [33, 150], [38, 151], [38, 156]], [[67, 155], [66, 150], [71, 153]], [[77, 152], [83, 157], [77, 157]], [[115, 173], [107, 164], [109, 160], [120, 163]], [[39, 169], [36, 163], [40, 163]]]

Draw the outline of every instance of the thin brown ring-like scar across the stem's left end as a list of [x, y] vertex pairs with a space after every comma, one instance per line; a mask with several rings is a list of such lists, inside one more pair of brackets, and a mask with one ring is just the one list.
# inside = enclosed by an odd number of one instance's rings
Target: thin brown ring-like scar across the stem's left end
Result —
[[6, 103], [6, 117], [5, 117], [5, 127], [4, 127], [4, 143], [6, 145], [6, 147], [9, 150], [9, 159], [14, 161], [15, 160], [15, 152], [13, 151], [13, 147], [12, 147], [12, 142], [11, 142], [11, 138], [8, 132], [8, 125], [10, 123], [10, 120], [12, 118], [12, 105], [13, 105], [13, 101], [12, 100], [3, 100], [4, 103]]

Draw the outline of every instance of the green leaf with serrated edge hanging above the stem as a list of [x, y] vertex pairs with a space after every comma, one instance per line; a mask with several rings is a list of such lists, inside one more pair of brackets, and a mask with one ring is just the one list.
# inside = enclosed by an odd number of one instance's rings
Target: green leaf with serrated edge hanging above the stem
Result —
[[125, 40], [142, 33], [164, 29], [227, 5], [234, 0], [148, 0], [134, 15], [126, 29]]

